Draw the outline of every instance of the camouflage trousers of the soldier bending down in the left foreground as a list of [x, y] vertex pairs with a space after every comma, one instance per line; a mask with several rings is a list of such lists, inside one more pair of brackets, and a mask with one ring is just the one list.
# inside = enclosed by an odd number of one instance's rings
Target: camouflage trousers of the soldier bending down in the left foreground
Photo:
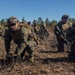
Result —
[[28, 58], [32, 57], [34, 55], [34, 48], [35, 48], [35, 46], [36, 46], [36, 42], [35, 41], [29, 41], [28, 45], [26, 46], [24, 51], [21, 53], [21, 58], [24, 56], [26, 51], [29, 54]]

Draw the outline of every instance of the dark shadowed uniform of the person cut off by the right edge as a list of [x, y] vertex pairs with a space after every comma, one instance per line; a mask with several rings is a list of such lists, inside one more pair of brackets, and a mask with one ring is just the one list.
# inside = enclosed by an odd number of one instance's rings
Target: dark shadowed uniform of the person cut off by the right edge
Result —
[[71, 42], [71, 52], [69, 53], [68, 57], [70, 59], [75, 59], [75, 24], [67, 32], [67, 39]]

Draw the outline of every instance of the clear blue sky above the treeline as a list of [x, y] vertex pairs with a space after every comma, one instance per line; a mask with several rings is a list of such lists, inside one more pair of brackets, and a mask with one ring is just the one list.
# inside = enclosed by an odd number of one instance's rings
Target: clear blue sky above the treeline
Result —
[[0, 20], [16, 16], [19, 21], [59, 21], [64, 14], [75, 18], [75, 0], [0, 0]]

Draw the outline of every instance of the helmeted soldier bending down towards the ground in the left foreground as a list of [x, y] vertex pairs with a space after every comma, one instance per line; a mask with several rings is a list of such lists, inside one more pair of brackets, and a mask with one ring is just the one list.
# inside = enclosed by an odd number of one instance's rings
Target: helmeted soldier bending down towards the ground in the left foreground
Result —
[[[26, 27], [19, 25], [19, 20], [15, 16], [11, 16], [8, 21], [8, 31], [5, 33], [5, 49], [8, 54], [17, 54], [23, 58], [25, 52], [28, 52], [28, 60], [34, 61], [34, 47], [37, 45], [34, 38], [30, 39], [31, 31]], [[15, 51], [10, 50], [11, 41], [16, 43]]]

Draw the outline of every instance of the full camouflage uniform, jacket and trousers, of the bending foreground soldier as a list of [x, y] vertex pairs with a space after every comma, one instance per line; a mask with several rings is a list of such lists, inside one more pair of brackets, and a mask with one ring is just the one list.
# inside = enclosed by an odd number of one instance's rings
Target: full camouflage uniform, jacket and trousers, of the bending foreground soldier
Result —
[[[17, 22], [14, 21], [15, 19], [10, 20], [11, 18], [13, 17], [10, 17], [8, 19], [8, 24], [9, 21]], [[9, 27], [7, 33], [5, 34], [5, 48], [7, 54], [9, 54], [10, 52], [10, 42], [13, 40], [17, 44], [15, 53], [23, 58], [25, 51], [27, 51], [29, 54], [29, 58], [31, 58], [33, 56], [33, 48], [35, 47], [36, 42], [34, 41], [34, 39], [29, 39], [30, 35], [31, 33], [29, 29], [24, 26], [18, 25], [16, 31], [12, 31]]]

